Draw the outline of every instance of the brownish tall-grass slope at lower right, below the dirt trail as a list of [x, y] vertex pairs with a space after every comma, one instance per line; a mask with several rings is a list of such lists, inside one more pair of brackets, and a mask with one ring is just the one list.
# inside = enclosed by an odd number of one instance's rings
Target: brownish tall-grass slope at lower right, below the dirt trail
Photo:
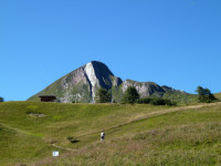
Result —
[[[93, 144], [56, 162], [44, 162], [91, 166], [221, 165], [220, 120], [220, 105], [161, 114], [109, 131], [113, 138], [105, 143]], [[120, 133], [127, 134], [119, 137]]]

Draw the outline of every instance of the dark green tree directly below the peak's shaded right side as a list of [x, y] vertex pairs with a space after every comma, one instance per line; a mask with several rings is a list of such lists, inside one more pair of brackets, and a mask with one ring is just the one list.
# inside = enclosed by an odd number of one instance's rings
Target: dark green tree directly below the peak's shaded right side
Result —
[[110, 93], [106, 89], [98, 89], [95, 95], [96, 103], [109, 103], [110, 100]]

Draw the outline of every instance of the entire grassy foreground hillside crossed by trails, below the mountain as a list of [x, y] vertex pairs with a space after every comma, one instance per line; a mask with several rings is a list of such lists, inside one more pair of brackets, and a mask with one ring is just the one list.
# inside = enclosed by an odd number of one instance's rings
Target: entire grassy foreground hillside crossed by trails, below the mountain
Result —
[[[219, 165], [221, 104], [0, 104], [3, 165]], [[99, 132], [105, 129], [105, 143]], [[78, 142], [70, 143], [74, 136]], [[59, 149], [59, 158], [51, 157]]]

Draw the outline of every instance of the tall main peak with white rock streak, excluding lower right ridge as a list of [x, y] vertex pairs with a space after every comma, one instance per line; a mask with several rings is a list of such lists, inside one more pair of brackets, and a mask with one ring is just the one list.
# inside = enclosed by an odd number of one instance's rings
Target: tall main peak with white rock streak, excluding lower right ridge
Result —
[[118, 86], [119, 80], [104, 63], [92, 61], [55, 81], [29, 100], [38, 101], [39, 95], [53, 94], [62, 103], [93, 103], [97, 89], [109, 90]]

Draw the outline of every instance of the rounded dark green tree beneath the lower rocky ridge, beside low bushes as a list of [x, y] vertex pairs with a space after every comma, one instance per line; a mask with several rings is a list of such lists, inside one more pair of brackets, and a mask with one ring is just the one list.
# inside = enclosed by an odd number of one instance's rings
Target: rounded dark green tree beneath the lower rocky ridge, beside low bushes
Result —
[[123, 103], [134, 104], [138, 98], [139, 98], [139, 94], [137, 90], [134, 86], [129, 86], [127, 87], [123, 96]]

